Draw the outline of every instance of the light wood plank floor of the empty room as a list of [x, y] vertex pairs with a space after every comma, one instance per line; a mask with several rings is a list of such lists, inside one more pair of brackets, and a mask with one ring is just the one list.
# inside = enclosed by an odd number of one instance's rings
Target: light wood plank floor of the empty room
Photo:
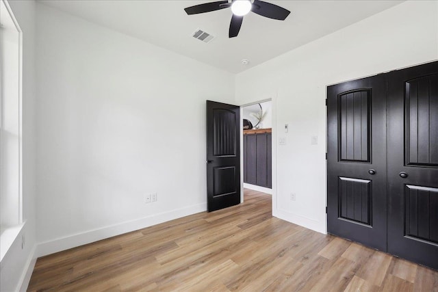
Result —
[[272, 217], [271, 198], [38, 258], [29, 291], [438, 291], [438, 271]]

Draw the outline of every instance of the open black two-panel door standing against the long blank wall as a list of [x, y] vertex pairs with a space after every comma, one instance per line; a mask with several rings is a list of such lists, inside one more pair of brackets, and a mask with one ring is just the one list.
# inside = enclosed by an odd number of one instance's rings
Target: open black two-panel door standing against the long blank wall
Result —
[[207, 101], [207, 209], [240, 203], [240, 107]]

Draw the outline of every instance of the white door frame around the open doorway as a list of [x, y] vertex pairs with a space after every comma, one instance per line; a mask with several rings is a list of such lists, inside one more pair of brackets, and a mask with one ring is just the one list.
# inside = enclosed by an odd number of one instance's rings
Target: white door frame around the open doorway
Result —
[[239, 104], [240, 106], [240, 203], [244, 202], [244, 129], [243, 129], [243, 108], [248, 105], [257, 105], [258, 103], [272, 102], [272, 215], [274, 215], [274, 207], [276, 207], [276, 93], [270, 94], [270, 97], [250, 101], [248, 103]]

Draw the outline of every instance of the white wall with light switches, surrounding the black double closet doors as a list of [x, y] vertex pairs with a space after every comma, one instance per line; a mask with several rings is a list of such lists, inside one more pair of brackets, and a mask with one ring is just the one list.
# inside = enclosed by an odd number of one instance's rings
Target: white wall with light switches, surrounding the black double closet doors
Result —
[[237, 75], [238, 104], [274, 96], [274, 215], [326, 233], [326, 85], [437, 59], [437, 23], [437, 1], [407, 1]]

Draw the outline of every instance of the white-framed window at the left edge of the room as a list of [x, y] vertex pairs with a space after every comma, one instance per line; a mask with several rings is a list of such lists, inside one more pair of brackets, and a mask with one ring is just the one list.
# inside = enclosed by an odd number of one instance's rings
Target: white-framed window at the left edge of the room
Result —
[[0, 250], [1, 259], [21, 230], [21, 29], [0, 0]]

